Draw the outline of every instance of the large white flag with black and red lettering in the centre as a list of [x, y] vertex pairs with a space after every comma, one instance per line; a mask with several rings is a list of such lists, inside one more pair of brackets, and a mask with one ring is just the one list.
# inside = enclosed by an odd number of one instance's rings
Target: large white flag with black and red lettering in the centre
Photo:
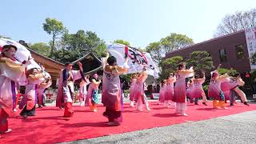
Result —
[[125, 58], [128, 58], [130, 69], [127, 74], [142, 72], [143, 66], [146, 66], [147, 74], [158, 78], [159, 68], [156, 66], [149, 53], [141, 52], [135, 48], [122, 44], [114, 43], [107, 46], [108, 52], [117, 58], [118, 66], [122, 66]]

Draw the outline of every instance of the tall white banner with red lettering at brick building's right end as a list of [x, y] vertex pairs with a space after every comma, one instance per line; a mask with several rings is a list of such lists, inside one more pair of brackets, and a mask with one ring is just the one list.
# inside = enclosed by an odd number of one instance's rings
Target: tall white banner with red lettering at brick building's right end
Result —
[[[250, 27], [245, 30], [246, 33], [246, 43], [247, 43], [247, 49], [249, 58], [252, 57], [252, 55], [256, 52], [256, 26]], [[250, 70], [255, 70], [256, 65], [250, 63]]]

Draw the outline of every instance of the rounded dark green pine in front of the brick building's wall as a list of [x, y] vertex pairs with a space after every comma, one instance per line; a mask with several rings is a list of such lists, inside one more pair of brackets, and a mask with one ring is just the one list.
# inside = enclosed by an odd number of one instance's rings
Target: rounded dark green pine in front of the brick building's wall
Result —
[[186, 61], [187, 67], [194, 66], [196, 73], [210, 72], [214, 69], [213, 58], [206, 51], [194, 51], [190, 54], [190, 59]]

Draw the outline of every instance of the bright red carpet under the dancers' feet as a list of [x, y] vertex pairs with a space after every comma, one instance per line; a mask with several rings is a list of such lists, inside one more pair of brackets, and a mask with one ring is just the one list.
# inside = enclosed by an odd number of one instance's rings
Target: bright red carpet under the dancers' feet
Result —
[[211, 106], [202, 106], [202, 104], [194, 106], [189, 103], [187, 117], [177, 116], [173, 114], [174, 109], [166, 109], [155, 102], [150, 103], [150, 108], [150, 112], [135, 112], [134, 108], [129, 108], [126, 104], [122, 125], [109, 127], [106, 125], [106, 118], [102, 116], [104, 111], [102, 106], [97, 113], [90, 112], [88, 107], [74, 106], [75, 114], [72, 118], [62, 118], [63, 110], [56, 107], [44, 107], [37, 109], [37, 116], [34, 117], [10, 118], [9, 124], [13, 131], [10, 134], [2, 134], [0, 143], [69, 142], [238, 114], [256, 110], [256, 105], [244, 106], [239, 103], [233, 107], [228, 106], [228, 110], [213, 110]]

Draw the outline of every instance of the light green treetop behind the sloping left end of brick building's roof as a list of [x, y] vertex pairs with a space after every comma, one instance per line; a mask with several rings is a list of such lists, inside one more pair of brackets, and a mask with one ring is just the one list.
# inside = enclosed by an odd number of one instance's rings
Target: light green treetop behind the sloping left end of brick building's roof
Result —
[[181, 49], [182, 47], [190, 46], [194, 42], [192, 38], [189, 38], [184, 34], [171, 33], [166, 38], [162, 38], [160, 43], [164, 54], [167, 54], [171, 51]]

